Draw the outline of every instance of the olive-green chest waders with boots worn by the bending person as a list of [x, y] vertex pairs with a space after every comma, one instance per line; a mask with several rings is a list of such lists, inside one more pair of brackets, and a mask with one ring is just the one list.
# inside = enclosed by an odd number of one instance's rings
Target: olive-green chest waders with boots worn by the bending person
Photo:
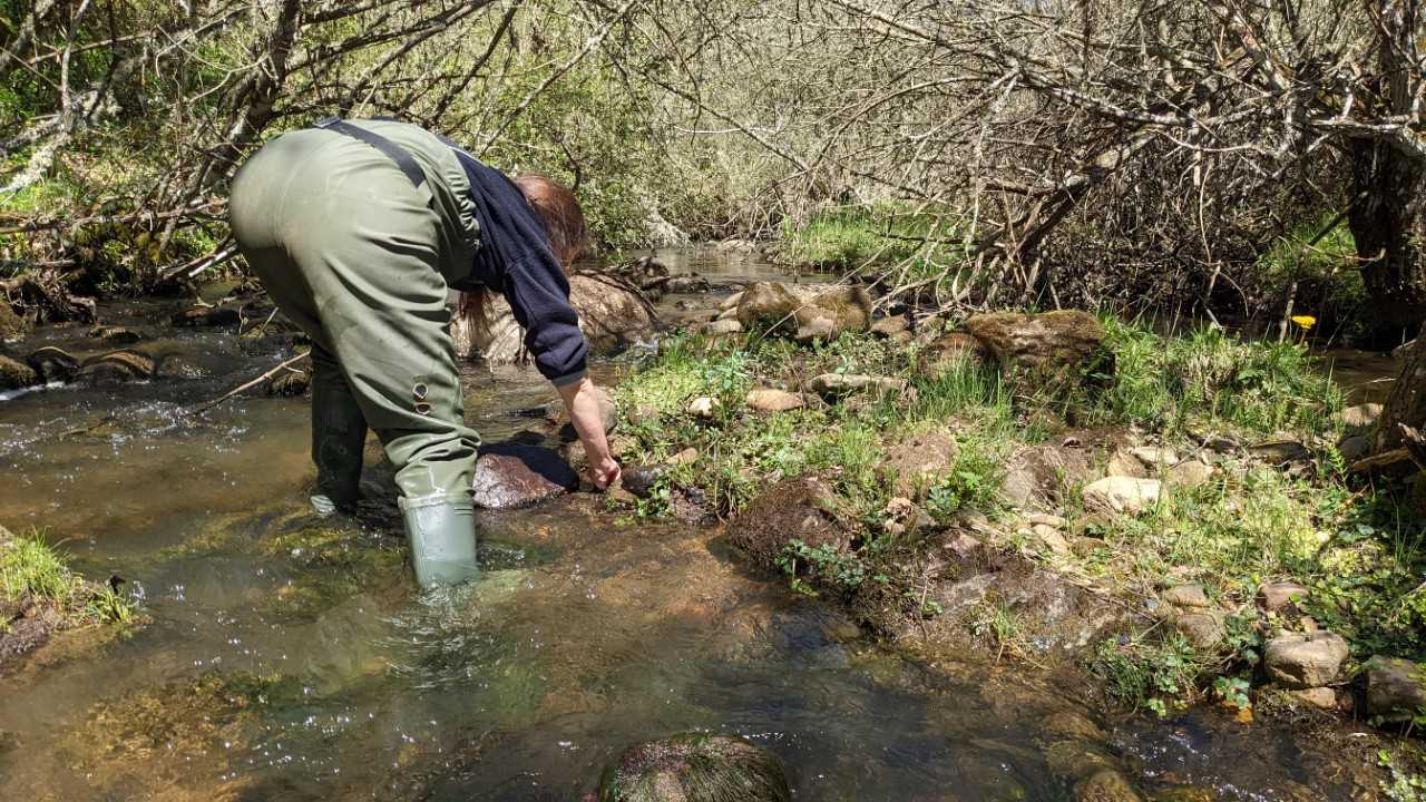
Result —
[[468, 203], [462, 180], [449, 148], [425, 131], [328, 118], [265, 146], [234, 178], [230, 203], [234, 237], [262, 284], [331, 355], [331, 381], [312, 407], [321, 491], [338, 505], [355, 491], [359, 468], [338, 457], [359, 458], [365, 427], [347, 421], [359, 412], [396, 465], [424, 588], [479, 577], [471, 498], [479, 438], [462, 421], [445, 307], [445, 273], [473, 253], [462, 238], [471, 228], [452, 211]]

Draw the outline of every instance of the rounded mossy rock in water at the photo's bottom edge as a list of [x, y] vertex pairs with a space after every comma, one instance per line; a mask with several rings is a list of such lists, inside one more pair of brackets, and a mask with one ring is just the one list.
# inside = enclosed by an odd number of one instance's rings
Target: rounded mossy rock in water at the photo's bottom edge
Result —
[[791, 802], [791, 791], [771, 752], [692, 732], [620, 755], [599, 783], [599, 802]]

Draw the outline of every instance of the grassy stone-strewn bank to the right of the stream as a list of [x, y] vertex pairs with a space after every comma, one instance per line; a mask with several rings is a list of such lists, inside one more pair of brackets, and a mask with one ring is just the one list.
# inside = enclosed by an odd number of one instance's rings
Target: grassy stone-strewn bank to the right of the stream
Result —
[[[1343, 400], [1306, 350], [1102, 323], [1112, 375], [1068, 388], [1007, 377], [974, 355], [937, 361], [934, 333], [904, 344], [844, 334], [810, 348], [761, 334], [674, 337], [617, 390], [633, 421], [620, 430], [625, 462], [670, 464], [639, 511], [660, 515], [692, 498], [736, 521], [779, 482], [819, 477], [853, 531], [850, 548], [793, 538], [767, 562], [794, 589], [844, 601], [887, 632], [940, 614], [927, 602], [934, 594], [924, 567], [965, 532], [1131, 609], [1158, 604], [1169, 587], [1199, 584], [1224, 611], [1222, 644], [1195, 648], [1144, 616], [1082, 654], [1112, 695], [1159, 712], [1211, 694], [1249, 704], [1263, 638], [1306, 619], [1348, 638], [1353, 666], [1373, 654], [1426, 658], [1426, 524], [1409, 488], [1362, 487], [1345, 474], [1336, 448]], [[906, 384], [844, 397], [807, 392], [801, 408], [781, 412], [746, 402], [754, 388], [796, 392], [819, 374]], [[697, 398], [714, 401], [710, 414], [690, 411]], [[1071, 425], [1105, 441], [1204, 452], [1209, 475], [1165, 482], [1169, 489], [1141, 514], [1104, 515], [1085, 508], [1079, 487], [1122, 454], [1108, 450], [1095, 471], [1062, 477], [1068, 487], [1054, 514], [1064, 519], [1067, 548], [1047, 548], [1027, 535], [1025, 514], [1001, 491], [1018, 454], [1058, 442]], [[911, 498], [898, 498], [888, 454], [930, 435], [954, 441], [954, 457]], [[1205, 444], [1218, 444], [1211, 460]], [[1283, 447], [1298, 454], [1286, 468], [1273, 457]], [[988, 525], [971, 524], [981, 515]], [[1309, 594], [1299, 609], [1263, 616], [1253, 598], [1275, 579]], [[1017, 644], [1034, 609], [990, 605], [981, 614], [971, 636], [997, 651], [1034, 651]]]

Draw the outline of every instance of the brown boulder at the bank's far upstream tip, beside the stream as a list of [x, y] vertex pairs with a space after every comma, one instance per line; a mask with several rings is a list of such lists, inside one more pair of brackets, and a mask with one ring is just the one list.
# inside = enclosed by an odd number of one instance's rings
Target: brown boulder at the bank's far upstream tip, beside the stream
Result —
[[843, 331], [867, 331], [871, 295], [846, 284], [759, 281], [743, 291], [737, 321], [793, 331], [799, 340], [830, 340]]

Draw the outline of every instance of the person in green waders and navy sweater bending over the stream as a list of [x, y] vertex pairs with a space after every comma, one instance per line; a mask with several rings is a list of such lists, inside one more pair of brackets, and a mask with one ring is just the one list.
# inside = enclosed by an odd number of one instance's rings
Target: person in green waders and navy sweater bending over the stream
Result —
[[593, 482], [619, 478], [565, 268], [585, 248], [573, 194], [515, 180], [449, 140], [391, 120], [324, 120], [267, 143], [230, 197], [232, 235], [272, 301], [312, 341], [312, 461], [324, 514], [358, 499], [366, 428], [396, 467], [422, 587], [478, 577], [449, 290], [502, 294], [559, 390]]

